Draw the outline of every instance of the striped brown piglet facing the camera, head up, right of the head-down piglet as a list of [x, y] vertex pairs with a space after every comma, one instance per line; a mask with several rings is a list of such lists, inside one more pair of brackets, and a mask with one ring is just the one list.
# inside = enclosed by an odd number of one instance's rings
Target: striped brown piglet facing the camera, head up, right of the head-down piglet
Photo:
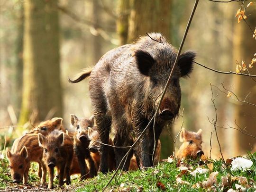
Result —
[[48, 168], [48, 189], [53, 189], [54, 167], [58, 171], [59, 186], [71, 184], [70, 168], [73, 159], [73, 142], [71, 138], [59, 130], [50, 132], [46, 137], [38, 134], [39, 145], [44, 149], [43, 160]]

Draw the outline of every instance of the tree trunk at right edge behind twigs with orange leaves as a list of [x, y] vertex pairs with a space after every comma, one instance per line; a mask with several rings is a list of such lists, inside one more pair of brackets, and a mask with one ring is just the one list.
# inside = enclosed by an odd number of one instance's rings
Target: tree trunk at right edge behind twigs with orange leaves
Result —
[[[254, 12], [256, 9], [254, 9]], [[246, 19], [248, 25], [255, 29], [256, 18], [249, 16]], [[242, 59], [245, 61], [247, 67], [251, 63], [251, 59], [254, 58], [256, 53], [256, 41], [252, 38], [253, 33], [250, 31], [247, 24], [242, 20], [241, 23], [235, 24], [235, 39], [234, 39], [234, 62], [242, 63]], [[255, 64], [254, 64], [255, 65]], [[236, 65], [234, 64], [234, 70]], [[256, 65], [252, 69], [249, 69], [250, 74], [256, 74]], [[244, 77], [236, 75], [234, 77], [235, 88], [233, 91], [237, 93], [240, 100], [256, 104], [256, 82], [250, 77]], [[251, 92], [249, 95], [247, 95]], [[235, 117], [237, 124], [243, 129], [246, 127], [246, 133], [256, 136], [256, 107], [247, 103], [235, 102]], [[236, 125], [234, 125], [236, 126]], [[238, 127], [236, 127], [238, 128]], [[247, 150], [251, 150], [256, 143], [256, 139], [246, 136], [244, 134], [236, 132], [236, 149], [238, 154], [245, 154]]]

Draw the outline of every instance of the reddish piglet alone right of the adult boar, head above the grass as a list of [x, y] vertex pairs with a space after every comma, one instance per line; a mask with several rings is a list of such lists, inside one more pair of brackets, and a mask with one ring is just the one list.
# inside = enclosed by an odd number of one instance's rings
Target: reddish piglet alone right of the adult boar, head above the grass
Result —
[[177, 158], [179, 159], [197, 159], [203, 155], [202, 151], [202, 130], [198, 132], [186, 131], [182, 128], [180, 134], [180, 141], [183, 142], [180, 149], [177, 152]]

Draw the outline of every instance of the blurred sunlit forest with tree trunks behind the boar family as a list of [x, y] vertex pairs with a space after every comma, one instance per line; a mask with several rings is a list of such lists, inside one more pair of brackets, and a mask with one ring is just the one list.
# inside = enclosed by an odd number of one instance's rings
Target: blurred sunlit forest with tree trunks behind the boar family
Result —
[[[195, 50], [196, 62], [220, 71], [236, 71], [242, 59], [248, 66], [256, 53], [252, 37], [256, 4], [247, 8], [247, 3], [246, 24], [235, 17], [241, 2], [199, 1], [183, 51]], [[0, 0], [0, 149], [4, 136], [10, 145], [39, 121], [63, 117], [69, 127], [70, 114], [90, 117], [88, 80], [70, 84], [68, 77], [93, 67], [108, 50], [146, 32], [163, 33], [178, 48], [192, 6], [192, 0]], [[256, 74], [255, 67], [248, 71]], [[210, 83], [225, 92], [212, 87], [214, 97], [218, 94], [214, 102], [223, 155], [255, 151], [256, 137], [246, 135], [256, 136], [255, 80], [219, 74], [197, 64], [190, 78], [181, 80], [183, 127], [202, 129], [207, 156], [214, 128], [210, 122], [215, 118]], [[252, 104], [233, 100], [233, 93], [227, 97], [229, 91], [222, 83]], [[172, 154], [170, 134], [176, 135], [181, 124], [179, 117], [163, 131], [163, 158]], [[215, 134], [211, 145], [211, 157], [219, 157]]]

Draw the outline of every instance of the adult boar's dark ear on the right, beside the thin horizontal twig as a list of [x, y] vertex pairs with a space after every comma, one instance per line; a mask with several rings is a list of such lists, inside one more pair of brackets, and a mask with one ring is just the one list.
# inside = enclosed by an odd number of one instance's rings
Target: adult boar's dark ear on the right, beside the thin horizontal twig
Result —
[[193, 51], [186, 51], [180, 55], [178, 66], [181, 69], [181, 77], [187, 77], [193, 70], [193, 62], [196, 53]]

